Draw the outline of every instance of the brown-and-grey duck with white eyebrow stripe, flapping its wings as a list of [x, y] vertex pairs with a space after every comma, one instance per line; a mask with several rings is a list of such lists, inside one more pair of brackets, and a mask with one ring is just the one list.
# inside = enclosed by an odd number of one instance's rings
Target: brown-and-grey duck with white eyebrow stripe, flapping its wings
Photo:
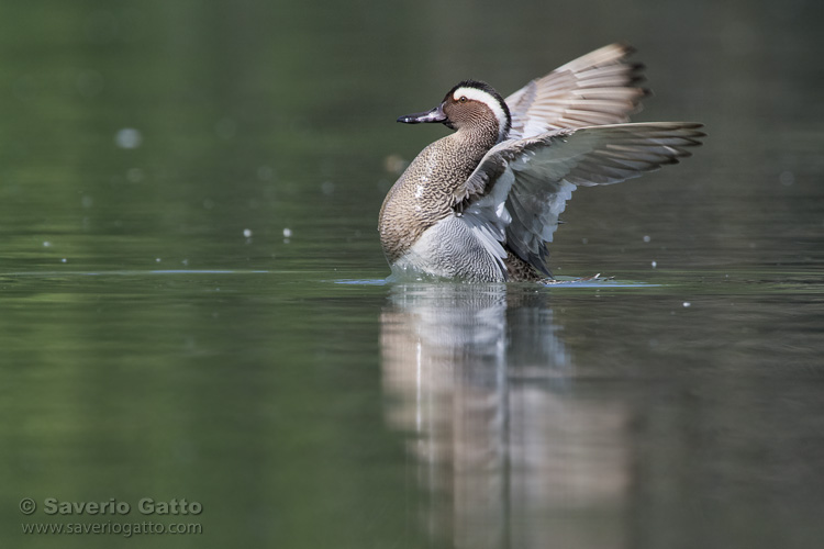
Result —
[[691, 156], [697, 122], [630, 123], [649, 96], [634, 49], [611, 44], [505, 99], [463, 80], [405, 124], [453, 131], [427, 145], [381, 205], [390, 280], [547, 282], [547, 244], [578, 187], [612, 184]]

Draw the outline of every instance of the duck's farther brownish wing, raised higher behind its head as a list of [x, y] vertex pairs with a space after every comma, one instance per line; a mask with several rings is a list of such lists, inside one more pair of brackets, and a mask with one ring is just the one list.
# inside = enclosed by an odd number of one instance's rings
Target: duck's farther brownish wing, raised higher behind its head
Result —
[[641, 64], [633, 49], [611, 44], [531, 81], [505, 99], [512, 115], [510, 138], [534, 137], [554, 130], [619, 124], [641, 110], [649, 92], [638, 87]]

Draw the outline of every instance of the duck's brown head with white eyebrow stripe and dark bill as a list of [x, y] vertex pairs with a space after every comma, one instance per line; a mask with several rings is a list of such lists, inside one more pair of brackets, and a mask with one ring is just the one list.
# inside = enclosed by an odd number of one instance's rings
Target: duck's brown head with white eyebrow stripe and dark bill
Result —
[[486, 82], [464, 80], [444, 97], [443, 102], [431, 111], [407, 114], [398, 119], [405, 124], [443, 122], [452, 130], [492, 128], [498, 132], [498, 142], [506, 138], [512, 126], [512, 116], [500, 93]]

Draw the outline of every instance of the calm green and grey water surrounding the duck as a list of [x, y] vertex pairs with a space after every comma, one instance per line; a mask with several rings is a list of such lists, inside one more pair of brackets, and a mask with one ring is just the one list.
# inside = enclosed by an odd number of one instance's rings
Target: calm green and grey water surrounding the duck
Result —
[[[0, 545], [820, 545], [821, 8], [0, 8]], [[564, 283], [386, 282], [394, 119], [613, 40], [695, 157], [577, 191]]]

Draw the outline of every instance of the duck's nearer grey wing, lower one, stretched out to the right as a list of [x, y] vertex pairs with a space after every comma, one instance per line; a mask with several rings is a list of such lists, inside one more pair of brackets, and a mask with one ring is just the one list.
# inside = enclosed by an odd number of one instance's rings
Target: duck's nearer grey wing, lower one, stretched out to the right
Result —
[[701, 124], [654, 122], [561, 130], [493, 147], [455, 191], [454, 203], [539, 271], [545, 242], [578, 186], [610, 184], [690, 156]]

